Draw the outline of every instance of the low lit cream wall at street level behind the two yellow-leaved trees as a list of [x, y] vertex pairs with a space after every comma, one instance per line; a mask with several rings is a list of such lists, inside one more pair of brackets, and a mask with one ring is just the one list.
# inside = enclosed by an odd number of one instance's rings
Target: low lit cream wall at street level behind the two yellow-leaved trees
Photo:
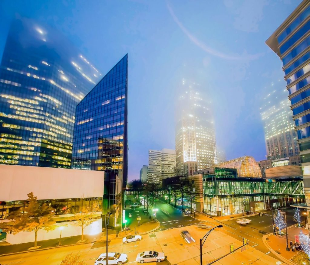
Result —
[[[58, 225], [52, 231], [39, 230], [38, 241], [48, 240], [60, 237], [72, 237], [82, 234], [82, 228], [80, 226], [73, 225], [73, 222], [58, 223]], [[62, 227], [62, 230], [60, 230]], [[89, 226], [84, 229], [84, 235], [96, 235], [102, 232], [102, 219], [96, 219]], [[15, 235], [7, 234], [7, 242], [10, 244], [20, 244], [34, 241], [34, 232], [19, 232]]]

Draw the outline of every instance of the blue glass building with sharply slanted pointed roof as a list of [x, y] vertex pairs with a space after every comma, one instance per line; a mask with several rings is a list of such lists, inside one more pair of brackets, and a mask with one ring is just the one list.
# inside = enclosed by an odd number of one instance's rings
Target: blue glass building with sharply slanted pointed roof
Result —
[[[127, 54], [76, 108], [72, 168], [104, 171], [104, 214], [121, 227], [127, 184]], [[113, 222], [111, 222], [113, 219]]]

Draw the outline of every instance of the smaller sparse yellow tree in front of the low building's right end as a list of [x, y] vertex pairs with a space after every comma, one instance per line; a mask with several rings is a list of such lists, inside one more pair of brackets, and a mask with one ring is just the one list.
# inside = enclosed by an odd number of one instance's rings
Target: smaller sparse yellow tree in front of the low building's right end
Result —
[[82, 209], [73, 210], [73, 225], [81, 227], [81, 240], [84, 240], [84, 229], [97, 219], [99, 208], [97, 202], [90, 202], [89, 205], [82, 206]]

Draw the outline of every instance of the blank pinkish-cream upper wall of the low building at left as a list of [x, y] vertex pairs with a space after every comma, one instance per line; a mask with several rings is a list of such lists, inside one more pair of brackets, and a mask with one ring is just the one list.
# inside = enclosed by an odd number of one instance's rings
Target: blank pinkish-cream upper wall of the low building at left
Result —
[[102, 197], [104, 171], [0, 165], [1, 201]]

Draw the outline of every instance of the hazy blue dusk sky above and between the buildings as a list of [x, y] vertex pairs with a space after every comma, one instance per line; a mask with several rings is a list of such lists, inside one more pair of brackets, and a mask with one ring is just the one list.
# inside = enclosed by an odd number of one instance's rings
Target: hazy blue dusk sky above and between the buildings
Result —
[[128, 53], [128, 180], [139, 178], [149, 149], [175, 149], [183, 78], [211, 102], [226, 158], [259, 161], [266, 159], [263, 98], [286, 87], [281, 60], [265, 41], [300, 2], [1, 0], [0, 57], [18, 16], [59, 30], [103, 74]]

